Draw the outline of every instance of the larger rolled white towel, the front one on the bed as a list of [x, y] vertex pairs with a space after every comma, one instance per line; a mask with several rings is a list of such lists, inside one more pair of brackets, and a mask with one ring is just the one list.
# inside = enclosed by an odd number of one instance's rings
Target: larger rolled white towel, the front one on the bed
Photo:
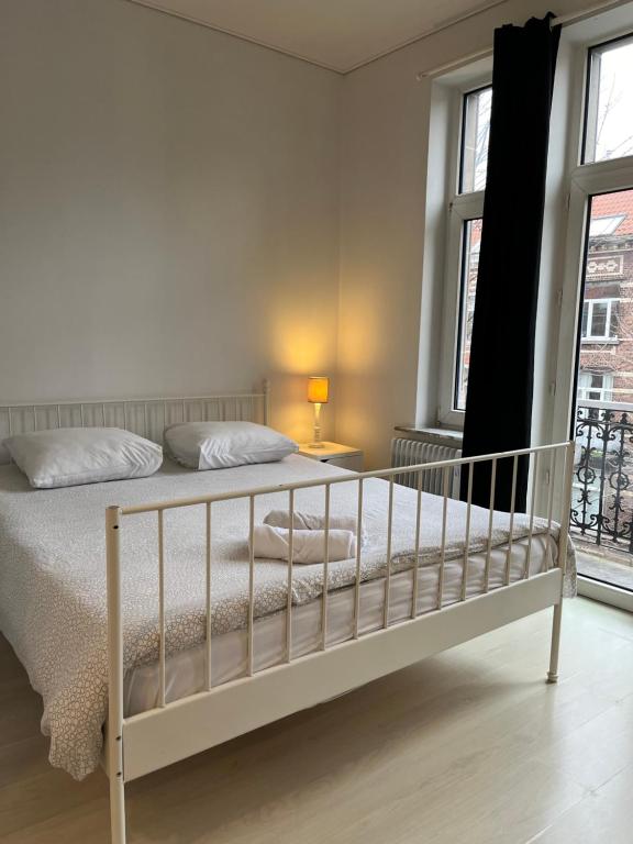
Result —
[[[266, 559], [288, 559], [289, 531], [270, 524], [257, 524], [253, 531], [253, 553]], [[325, 531], [292, 531], [292, 562], [323, 563]], [[351, 559], [356, 555], [356, 536], [352, 531], [331, 530], [330, 562]]]

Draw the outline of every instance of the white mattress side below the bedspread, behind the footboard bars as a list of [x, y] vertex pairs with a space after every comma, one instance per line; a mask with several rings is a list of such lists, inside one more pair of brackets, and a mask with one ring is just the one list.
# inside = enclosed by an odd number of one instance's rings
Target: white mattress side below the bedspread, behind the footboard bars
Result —
[[[552, 537], [542, 534], [532, 541], [530, 576], [546, 571], [557, 562], [558, 546]], [[510, 582], [523, 579], [528, 560], [528, 540], [519, 540], [510, 552]], [[508, 546], [495, 548], [490, 554], [489, 588], [506, 582]], [[485, 591], [486, 554], [468, 557], [467, 598]], [[463, 559], [445, 565], [443, 607], [460, 600]], [[423, 614], [437, 609], [438, 566], [421, 566], [418, 574], [417, 612]], [[358, 632], [360, 635], [379, 630], [385, 620], [385, 578], [360, 584]], [[413, 601], [413, 571], [401, 571], [390, 578], [389, 624], [411, 618]], [[327, 596], [326, 644], [337, 645], [351, 640], [354, 633], [354, 587], [337, 589]], [[322, 599], [297, 607], [291, 613], [292, 658], [307, 656], [321, 648]], [[171, 703], [206, 688], [207, 648], [197, 645], [168, 657], [165, 663], [165, 699]], [[270, 668], [286, 660], [286, 611], [257, 619], [253, 628], [253, 666], [255, 671]], [[224, 633], [211, 638], [211, 685], [220, 686], [247, 673], [248, 641], [245, 630]], [[143, 665], [127, 673], [124, 684], [124, 714], [126, 718], [146, 712], [158, 706], [158, 663]]]

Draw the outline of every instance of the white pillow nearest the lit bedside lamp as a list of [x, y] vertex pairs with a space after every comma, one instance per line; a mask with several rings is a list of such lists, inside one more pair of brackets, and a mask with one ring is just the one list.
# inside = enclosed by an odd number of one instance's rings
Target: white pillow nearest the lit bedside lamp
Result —
[[255, 422], [184, 422], [165, 431], [165, 444], [190, 469], [273, 463], [299, 449], [293, 440]]

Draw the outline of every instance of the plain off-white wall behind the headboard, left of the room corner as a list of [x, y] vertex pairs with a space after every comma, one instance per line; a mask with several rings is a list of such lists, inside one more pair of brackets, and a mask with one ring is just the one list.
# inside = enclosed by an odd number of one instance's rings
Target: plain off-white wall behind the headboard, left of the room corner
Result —
[[124, 0], [2, 0], [0, 403], [269, 375], [306, 438], [299, 375], [335, 370], [340, 87]]

